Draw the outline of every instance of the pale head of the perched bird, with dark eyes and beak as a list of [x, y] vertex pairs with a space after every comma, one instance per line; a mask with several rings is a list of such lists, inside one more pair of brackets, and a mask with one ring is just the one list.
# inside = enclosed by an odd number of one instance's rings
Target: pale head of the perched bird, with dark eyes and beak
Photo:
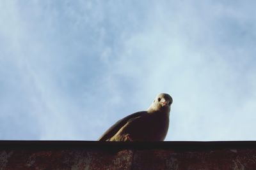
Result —
[[169, 94], [161, 93], [157, 95], [156, 99], [154, 99], [150, 108], [148, 108], [148, 112], [166, 111], [169, 113], [172, 102], [172, 97]]

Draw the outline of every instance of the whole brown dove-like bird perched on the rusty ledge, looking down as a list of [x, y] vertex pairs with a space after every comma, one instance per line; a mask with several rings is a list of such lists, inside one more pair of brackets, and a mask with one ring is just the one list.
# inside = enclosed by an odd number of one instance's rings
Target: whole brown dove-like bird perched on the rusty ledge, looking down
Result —
[[159, 94], [147, 111], [139, 111], [112, 125], [99, 141], [163, 141], [169, 127], [172, 97]]

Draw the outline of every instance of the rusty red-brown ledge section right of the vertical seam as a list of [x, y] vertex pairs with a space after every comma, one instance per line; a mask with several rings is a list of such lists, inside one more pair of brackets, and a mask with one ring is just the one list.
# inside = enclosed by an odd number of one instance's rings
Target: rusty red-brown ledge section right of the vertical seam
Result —
[[138, 151], [134, 169], [256, 169], [256, 150]]

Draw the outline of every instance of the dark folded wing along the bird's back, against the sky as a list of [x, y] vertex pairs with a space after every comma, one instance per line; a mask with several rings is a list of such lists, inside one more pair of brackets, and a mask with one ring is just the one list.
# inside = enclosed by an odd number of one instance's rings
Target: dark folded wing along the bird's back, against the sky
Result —
[[113, 137], [116, 132], [118, 132], [127, 122], [131, 121], [133, 118], [142, 117], [145, 114], [147, 114], [147, 111], [139, 111], [125, 118], [122, 118], [121, 120], [118, 120], [118, 122], [109, 127], [108, 131], [104, 132], [104, 134], [102, 134], [102, 136], [98, 140], [106, 141], [107, 139]]

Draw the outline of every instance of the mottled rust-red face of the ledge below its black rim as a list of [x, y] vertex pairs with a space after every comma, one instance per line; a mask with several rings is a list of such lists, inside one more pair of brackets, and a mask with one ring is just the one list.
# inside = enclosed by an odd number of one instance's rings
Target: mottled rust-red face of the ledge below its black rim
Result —
[[256, 148], [102, 148], [2, 147], [0, 169], [256, 169]]

